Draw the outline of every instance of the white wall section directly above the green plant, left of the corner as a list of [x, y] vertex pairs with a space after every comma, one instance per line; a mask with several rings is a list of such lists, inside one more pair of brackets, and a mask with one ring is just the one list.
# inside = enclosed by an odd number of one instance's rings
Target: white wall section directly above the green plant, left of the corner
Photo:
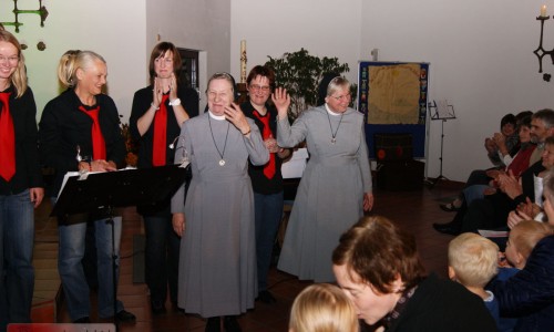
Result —
[[246, 40], [247, 73], [271, 58], [301, 48], [347, 62], [356, 82], [360, 53], [362, 0], [233, 0], [230, 72], [240, 77], [240, 40]]

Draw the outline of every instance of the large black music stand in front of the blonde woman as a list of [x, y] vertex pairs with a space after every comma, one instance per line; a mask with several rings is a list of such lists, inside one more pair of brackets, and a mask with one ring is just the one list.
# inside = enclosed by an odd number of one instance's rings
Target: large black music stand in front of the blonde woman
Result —
[[[86, 173], [65, 181], [50, 216], [60, 224], [76, 214], [107, 214], [112, 225], [113, 317], [117, 328], [117, 274], [113, 208], [156, 204], [175, 194], [187, 176], [186, 167], [166, 165], [144, 169]], [[86, 219], [84, 219], [86, 220]]]

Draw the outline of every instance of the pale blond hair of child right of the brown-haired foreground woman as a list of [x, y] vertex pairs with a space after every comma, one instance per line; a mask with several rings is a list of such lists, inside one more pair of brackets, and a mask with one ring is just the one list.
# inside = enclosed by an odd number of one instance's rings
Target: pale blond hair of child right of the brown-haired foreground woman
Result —
[[449, 243], [449, 266], [465, 287], [484, 287], [499, 269], [499, 246], [473, 232], [464, 232]]

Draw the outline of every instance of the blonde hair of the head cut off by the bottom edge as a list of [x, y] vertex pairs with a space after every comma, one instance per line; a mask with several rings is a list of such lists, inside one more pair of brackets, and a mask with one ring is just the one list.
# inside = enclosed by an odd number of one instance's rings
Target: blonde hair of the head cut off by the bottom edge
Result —
[[289, 331], [358, 332], [353, 303], [342, 290], [329, 283], [309, 286], [296, 297], [290, 310]]

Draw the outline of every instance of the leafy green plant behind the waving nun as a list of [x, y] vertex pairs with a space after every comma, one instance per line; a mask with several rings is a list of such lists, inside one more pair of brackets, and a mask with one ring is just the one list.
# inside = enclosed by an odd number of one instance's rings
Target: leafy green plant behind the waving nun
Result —
[[[289, 117], [295, 120], [300, 113], [317, 105], [318, 84], [328, 72], [342, 74], [350, 71], [347, 63], [341, 64], [338, 58], [318, 58], [305, 49], [287, 52], [281, 58], [269, 58], [267, 66], [276, 73], [276, 85], [285, 87], [290, 94]], [[356, 100], [357, 84], [350, 87], [352, 102]]]

